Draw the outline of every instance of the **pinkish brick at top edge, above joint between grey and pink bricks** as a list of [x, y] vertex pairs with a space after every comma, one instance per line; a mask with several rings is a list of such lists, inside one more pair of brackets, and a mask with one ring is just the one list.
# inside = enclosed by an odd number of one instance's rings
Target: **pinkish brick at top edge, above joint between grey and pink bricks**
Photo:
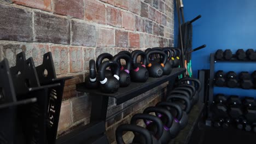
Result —
[[106, 8], [105, 5], [95, 1], [85, 1], [85, 20], [106, 24]]

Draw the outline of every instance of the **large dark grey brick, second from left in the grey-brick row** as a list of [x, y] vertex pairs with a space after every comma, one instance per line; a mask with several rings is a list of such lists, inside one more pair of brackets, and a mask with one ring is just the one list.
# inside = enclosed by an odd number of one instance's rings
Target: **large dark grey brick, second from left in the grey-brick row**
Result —
[[34, 33], [37, 42], [70, 44], [70, 20], [35, 12]]

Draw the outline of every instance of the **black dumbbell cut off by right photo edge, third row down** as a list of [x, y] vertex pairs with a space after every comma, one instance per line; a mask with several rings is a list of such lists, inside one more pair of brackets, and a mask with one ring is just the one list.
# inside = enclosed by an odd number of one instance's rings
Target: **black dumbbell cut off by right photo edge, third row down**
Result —
[[256, 103], [254, 98], [245, 97], [243, 99], [244, 115], [249, 123], [256, 122]]

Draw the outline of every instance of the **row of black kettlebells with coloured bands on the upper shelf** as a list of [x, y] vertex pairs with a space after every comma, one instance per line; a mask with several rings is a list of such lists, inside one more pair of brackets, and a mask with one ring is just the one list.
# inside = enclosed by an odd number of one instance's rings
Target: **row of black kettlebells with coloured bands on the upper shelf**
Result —
[[[171, 47], [149, 48], [145, 52], [121, 51], [115, 56], [102, 53], [96, 63], [94, 59], [89, 62], [90, 74], [85, 78], [85, 87], [100, 87], [104, 93], [115, 93], [119, 87], [129, 86], [131, 81], [146, 82], [148, 77], [169, 75], [172, 68], [179, 66], [180, 55], [179, 49]], [[103, 62], [106, 59], [108, 61]], [[125, 60], [125, 65], [121, 65], [121, 59]]]

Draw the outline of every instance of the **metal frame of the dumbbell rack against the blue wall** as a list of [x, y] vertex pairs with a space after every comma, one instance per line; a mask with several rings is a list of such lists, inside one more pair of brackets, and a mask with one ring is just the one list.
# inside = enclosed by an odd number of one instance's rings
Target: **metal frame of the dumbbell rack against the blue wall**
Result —
[[[236, 55], [232, 55], [232, 58], [227, 61], [225, 59], [217, 60], [214, 58], [215, 53], [211, 53], [210, 55], [210, 77], [209, 77], [209, 83], [208, 83], [208, 106], [207, 106], [207, 118], [206, 118], [206, 125], [211, 126], [211, 119], [213, 116], [213, 113], [210, 110], [210, 105], [213, 103], [213, 89], [214, 87], [214, 71], [215, 71], [215, 63], [217, 62], [256, 62], [256, 61], [250, 61], [248, 58], [246, 58], [244, 61], [241, 61], [236, 58]], [[240, 87], [236, 87], [240, 88]]]

